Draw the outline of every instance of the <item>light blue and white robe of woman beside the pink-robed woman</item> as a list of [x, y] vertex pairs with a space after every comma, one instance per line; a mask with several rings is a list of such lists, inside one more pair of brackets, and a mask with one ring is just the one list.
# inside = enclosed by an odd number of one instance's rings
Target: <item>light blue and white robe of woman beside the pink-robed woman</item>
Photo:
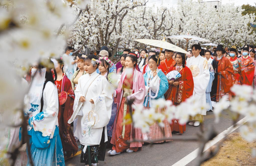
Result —
[[[151, 107], [152, 99], [164, 98], [164, 95], [169, 88], [168, 80], [165, 74], [163, 73], [163, 71], [159, 69], [157, 69], [157, 75], [155, 77], [153, 77], [151, 70], [145, 73], [143, 77], [145, 81], [146, 94], [147, 94], [144, 99], [143, 106], [147, 107], [149, 104], [149, 107]], [[147, 89], [149, 89], [149, 93]], [[155, 92], [153, 92], [152, 90]]]

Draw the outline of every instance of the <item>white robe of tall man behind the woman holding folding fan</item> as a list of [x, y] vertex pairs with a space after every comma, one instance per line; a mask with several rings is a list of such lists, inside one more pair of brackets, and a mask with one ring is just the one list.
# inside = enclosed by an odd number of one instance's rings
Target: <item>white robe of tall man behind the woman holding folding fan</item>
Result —
[[[208, 62], [205, 58], [198, 55], [196, 58], [192, 56], [187, 59], [187, 67], [191, 70], [194, 80], [193, 96], [206, 104], [206, 88], [210, 80], [210, 72]], [[201, 112], [201, 115], [206, 115], [206, 109]]]

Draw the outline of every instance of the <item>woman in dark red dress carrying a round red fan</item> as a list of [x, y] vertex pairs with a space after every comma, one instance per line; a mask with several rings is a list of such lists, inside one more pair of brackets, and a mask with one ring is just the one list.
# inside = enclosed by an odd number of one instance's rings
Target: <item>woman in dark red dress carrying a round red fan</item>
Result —
[[59, 94], [59, 114], [58, 122], [60, 127], [60, 139], [62, 140], [63, 152], [66, 152], [67, 157], [75, 154], [78, 150], [73, 131], [67, 121], [73, 114], [73, 104], [75, 95], [71, 86], [70, 80], [63, 72], [64, 63], [62, 59], [52, 59], [57, 75], [55, 85]]

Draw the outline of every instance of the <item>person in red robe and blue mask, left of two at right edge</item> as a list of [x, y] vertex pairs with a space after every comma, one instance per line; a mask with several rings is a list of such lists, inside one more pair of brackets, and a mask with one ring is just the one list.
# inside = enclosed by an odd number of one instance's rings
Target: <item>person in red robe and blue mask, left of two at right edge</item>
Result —
[[234, 74], [236, 75], [235, 77], [235, 85], [242, 85], [242, 80], [245, 78], [245, 73], [244, 73], [244, 67], [242, 64], [242, 61], [236, 57], [237, 54], [237, 48], [236, 46], [232, 46], [230, 48], [230, 62], [233, 65], [234, 69]]

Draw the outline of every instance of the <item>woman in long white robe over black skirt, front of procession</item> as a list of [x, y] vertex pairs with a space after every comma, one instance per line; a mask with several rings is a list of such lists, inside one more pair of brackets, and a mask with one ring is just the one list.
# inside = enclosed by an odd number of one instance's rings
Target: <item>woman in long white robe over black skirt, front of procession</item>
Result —
[[78, 80], [75, 89], [74, 113], [68, 123], [75, 118], [77, 127], [74, 136], [81, 143], [81, 163], [97, 165], [104, 160], [107, 142], [107, 124], [111, 117], [112, 91], [107, 79], [96, 71], [97, 56], [89, 55], [84, 62], [87, 74]]

